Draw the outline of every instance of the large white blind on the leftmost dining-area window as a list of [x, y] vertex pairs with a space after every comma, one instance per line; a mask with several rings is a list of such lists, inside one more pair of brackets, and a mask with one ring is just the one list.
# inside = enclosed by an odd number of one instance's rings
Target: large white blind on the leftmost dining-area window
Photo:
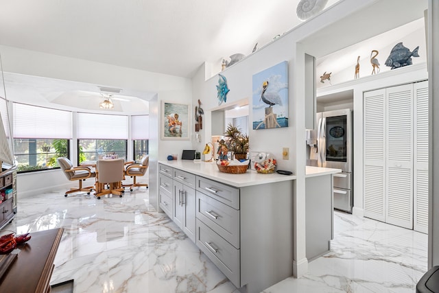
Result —
[[72, 138], [71, 112], [19, 103], [14, 103], [13, 108], [14, 138]]

